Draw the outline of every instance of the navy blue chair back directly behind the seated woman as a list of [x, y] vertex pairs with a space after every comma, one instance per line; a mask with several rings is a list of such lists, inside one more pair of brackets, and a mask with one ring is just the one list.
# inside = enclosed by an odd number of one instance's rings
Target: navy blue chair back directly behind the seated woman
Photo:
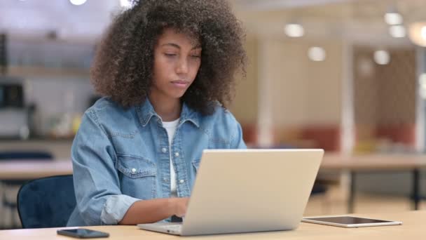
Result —
[[22, 228], [65, 227], [76, 207], [72, 175], [29, 181], [17, 202]]

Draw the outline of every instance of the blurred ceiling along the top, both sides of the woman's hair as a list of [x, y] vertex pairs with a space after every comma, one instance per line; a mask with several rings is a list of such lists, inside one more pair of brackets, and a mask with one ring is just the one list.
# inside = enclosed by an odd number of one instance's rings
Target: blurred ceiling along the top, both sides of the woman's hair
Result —
[[[11, 39], [57, 39], [93, 44], [121, 10], [124, 0], [1, 0], [0, 32]], [[426, 0], [230, 0], [252, 34], [282, 36], [286, 22], [305, 26], [305, 38], [409, 44], [392, 39], [383, 15], [390, 8], [404, 16], [404, 25], [426, 20]]]

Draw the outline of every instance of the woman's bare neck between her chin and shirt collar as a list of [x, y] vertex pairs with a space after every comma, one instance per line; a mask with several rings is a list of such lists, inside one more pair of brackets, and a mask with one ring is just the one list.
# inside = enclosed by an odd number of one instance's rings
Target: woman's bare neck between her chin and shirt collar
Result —
[[163, 119], [163, 121], [173, 121], [179, 119], [181, 115], [182, 104], [178, 99], [164, 99], [156, 98], [155, 95], [149, 96], [149, 101], [153, 106], [156, 113]]

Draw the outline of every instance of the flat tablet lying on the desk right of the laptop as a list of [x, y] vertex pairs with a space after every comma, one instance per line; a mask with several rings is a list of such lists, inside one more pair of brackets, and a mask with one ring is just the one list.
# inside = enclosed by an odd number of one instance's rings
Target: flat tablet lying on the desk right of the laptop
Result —
[[336, 227], [373, 227], [386, 225], [402, 225], [399, 221], [378, 220], [372, 218], [358, 218], [352, 216], [331, 216], [331, 217], [315, 217], [302, 218], [302, 222], [311, 222]]

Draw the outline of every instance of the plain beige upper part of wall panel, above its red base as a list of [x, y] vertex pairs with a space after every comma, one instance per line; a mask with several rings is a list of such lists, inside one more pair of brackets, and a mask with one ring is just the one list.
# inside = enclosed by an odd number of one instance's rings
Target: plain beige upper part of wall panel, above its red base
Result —
[[[310, 46], [322, 46], [324, 62], [312, 62]], [[341, 44], [268, 41], [266, 71], [273, 80], [274, 125], [339, 124], [341, 119]]]

